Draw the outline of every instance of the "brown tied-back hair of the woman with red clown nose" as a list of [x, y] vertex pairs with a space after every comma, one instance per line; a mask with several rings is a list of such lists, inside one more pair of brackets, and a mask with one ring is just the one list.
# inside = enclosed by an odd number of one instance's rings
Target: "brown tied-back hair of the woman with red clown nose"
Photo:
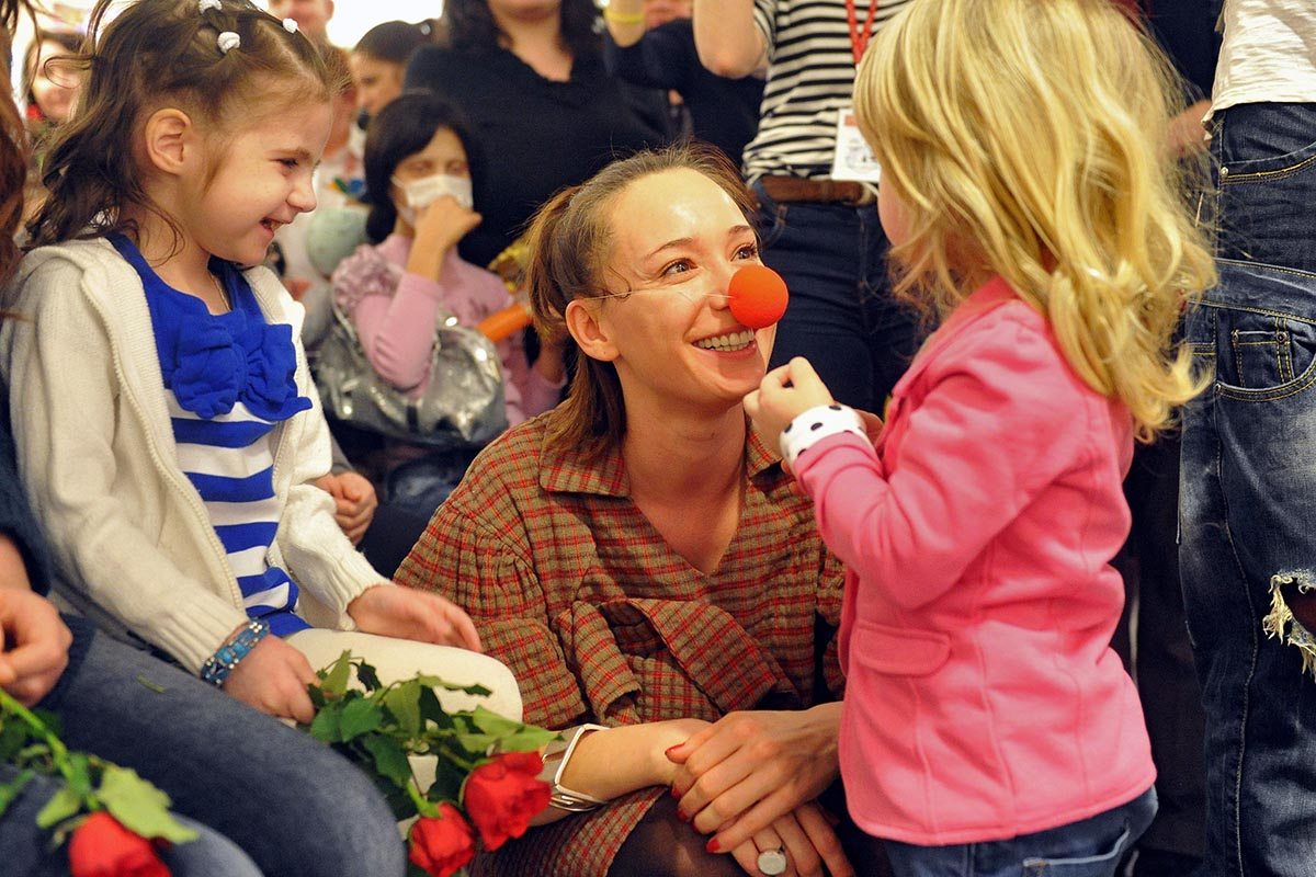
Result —
[[[580, 185], [558, 192], [540, 208], [526, 233], [525, 283], [541, 338], [566, 342], [569, 350], [575, 346], [566, 326], [567, 304], [608, 295], [604, 270], [612, 254], [611, 206], [636, 180], [672, 170], [703, 174], [751, 220], [754, 196], [736, 166], [721, 151], [703, 145], [678, 143], [637, 153], [613, 162]], [[576, 347], [575, 377], [558, 410], [550, 442], [591, 452], [616, 446], [626, 433], [616, 367]]]

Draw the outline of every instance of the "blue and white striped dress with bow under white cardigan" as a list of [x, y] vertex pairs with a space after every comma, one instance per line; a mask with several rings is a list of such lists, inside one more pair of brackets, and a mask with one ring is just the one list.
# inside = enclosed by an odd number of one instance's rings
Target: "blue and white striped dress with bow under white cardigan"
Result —
[[265, 618], [279, 636], [309, 627], [293, 614], [296, 582], [267, 560], [282, 511], [271, 434], [311, 408], [293, 380], [291, 326], [268, 325], [242, 273], [226, 262], [212, 259], [211, 270], [233, 308], [212, 314], [200, 298], [166, 284], [126, 237], [111, 242], [142, 279], [178, 463], [228, 552], [247, 615]]

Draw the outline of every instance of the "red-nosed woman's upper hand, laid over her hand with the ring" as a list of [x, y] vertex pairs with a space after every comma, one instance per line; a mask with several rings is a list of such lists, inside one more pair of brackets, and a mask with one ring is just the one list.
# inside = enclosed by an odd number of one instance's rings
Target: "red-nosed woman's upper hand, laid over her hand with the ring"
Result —
[[682, 815], [719, 849], [736, 849], [812, 801], [840, 773], [841, 705], [730, 713], [672, 747]]

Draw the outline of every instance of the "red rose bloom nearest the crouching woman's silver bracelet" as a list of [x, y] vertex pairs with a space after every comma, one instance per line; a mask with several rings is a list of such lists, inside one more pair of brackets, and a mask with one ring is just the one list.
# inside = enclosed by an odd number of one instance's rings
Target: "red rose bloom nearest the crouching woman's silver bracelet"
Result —
[[537, 752], [505, 752], [471, 770], [463, 803], [486, 849], [524, 835], [530, 817], [549, 806], [553, 790], [540, 780], [542, 769]]

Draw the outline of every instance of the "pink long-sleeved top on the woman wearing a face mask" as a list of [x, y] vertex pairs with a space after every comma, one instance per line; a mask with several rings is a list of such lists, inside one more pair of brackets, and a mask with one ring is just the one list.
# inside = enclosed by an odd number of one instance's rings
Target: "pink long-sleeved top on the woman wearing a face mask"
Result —
[[[434, 323], [441, 310], [475, 326], [512, 304], [497, 275], [465, 262], [457, 250], [443, 259], [438, 280], [409, 273], [412, 239], [391, 234], [378, 246], [362, 245], [333, 275], [334, 300], [357, 326], [366, 359], [401, 391], [420, 396], [429, 381]], [[503, 360], [507, 422], [542, 414], [558, 401], [561, 384], [526, 362], [520, 334], [497, 343]]]

